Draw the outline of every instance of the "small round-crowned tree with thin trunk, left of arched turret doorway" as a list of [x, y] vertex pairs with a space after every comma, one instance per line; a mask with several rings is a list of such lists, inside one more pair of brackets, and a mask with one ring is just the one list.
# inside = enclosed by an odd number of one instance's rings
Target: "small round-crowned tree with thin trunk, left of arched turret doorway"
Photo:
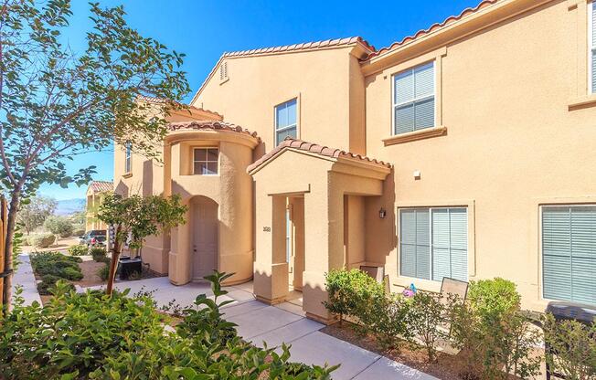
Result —
[[108, 194], [101, 203], [98, 219], [113, 227], [114, 244], [107, 293], [112, 294], [114, 275], [122, 246], [129, 241], [133, 249], [143, 247], [144, 238], [186, 223], [187, 207], [180, 203], [179, 195], [120, 195]]

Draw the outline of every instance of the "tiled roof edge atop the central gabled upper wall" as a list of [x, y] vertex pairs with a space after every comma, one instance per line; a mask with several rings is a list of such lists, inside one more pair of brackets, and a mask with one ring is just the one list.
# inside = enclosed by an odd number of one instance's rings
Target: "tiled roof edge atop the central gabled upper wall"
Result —
[[284, 45], [284, 46], [280, 46], [280, 47], [262, 47], [262, 48], [254, 48], [254, 49], [250, 49], [250, 50], [224, 52], [221, 55], [221, 57], [219, 57], [218, 62], [215, 64], [213, 69], [211, 69], [211, 71], [208, 73], [207, 78], [203, 81], [203, 83], [201, 83], [201, 86], [198, 88], [197, 93], [193, 97], [193, 100], [191, 100], [190, 102], [194, 103], [195, 100], [197, 100], [198, 95], [205, 88], [205, 85], [213, 77], [215, 72], [218, 70], [219, 65], [225, 58], [245, 58], [245, 57], [266, 56], [266, 55], [271, 55], [271, 54], [300, 53], [300, 52], [304, 52], [304, 51], [323, 50], [323, 49], [335, 48], [335, 47], [346, 47], [346, 46], [350, 46], [350, 45], [359, 45], [370, 53], [376, 51], [375, 47], [370, 45], [367, 42], [367, 40], [362, 37], [345, 37], [345, 38], [325, 39], [323, 41], [303, 42], [301, 44]]

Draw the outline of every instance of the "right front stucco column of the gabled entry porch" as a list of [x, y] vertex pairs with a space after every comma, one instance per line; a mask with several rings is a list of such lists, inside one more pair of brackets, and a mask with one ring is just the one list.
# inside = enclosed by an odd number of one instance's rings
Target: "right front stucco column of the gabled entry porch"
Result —
[[320, 322], [331, 322], [325, 309], [325, 273], [344, 265], [344, 196], [331, 184], [304, 195], [303, 311]]

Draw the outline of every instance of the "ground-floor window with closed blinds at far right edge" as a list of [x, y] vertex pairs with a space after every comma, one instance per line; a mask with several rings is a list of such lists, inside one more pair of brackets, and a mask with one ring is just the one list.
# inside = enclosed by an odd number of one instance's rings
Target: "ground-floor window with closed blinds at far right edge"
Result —
[[596, 303], [596, 206], [542, 207], [542, 287], [545, 299]]

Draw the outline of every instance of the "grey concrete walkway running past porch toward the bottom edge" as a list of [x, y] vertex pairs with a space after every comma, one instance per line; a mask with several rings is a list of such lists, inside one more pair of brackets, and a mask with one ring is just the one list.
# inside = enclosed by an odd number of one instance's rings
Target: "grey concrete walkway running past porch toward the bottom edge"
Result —
[[[173, 300], [181, 306], [190, 306], [198, 294], [205, 293], [208, 297], [213, 295], [208, 283], [175, 286], [165, 277], [120, 282], [115, 286], [119, 290], [130, 288], [131, 294], [139, 290], [151, 291], [160, 306]], [[325, 326], [305, 318], [302, 308], [297, 304], [284, 302], [269, 306], [256, 301], [252, 295], [251, 283], [225, 289], [229, 294], [218, 301], [234, 301], [223, 311], [229, 322], [238, 324], [239, 335], [260, 347], [265, 344], [268, 347], [289, 344], [292, 346], [290, 353], [293, 362], [341, 364], [333, 373], [333, 378], [339, 380], [436, 380], [431, 375], [320, 332]], [[281, 351], [279, 348], [278, 350]]]

